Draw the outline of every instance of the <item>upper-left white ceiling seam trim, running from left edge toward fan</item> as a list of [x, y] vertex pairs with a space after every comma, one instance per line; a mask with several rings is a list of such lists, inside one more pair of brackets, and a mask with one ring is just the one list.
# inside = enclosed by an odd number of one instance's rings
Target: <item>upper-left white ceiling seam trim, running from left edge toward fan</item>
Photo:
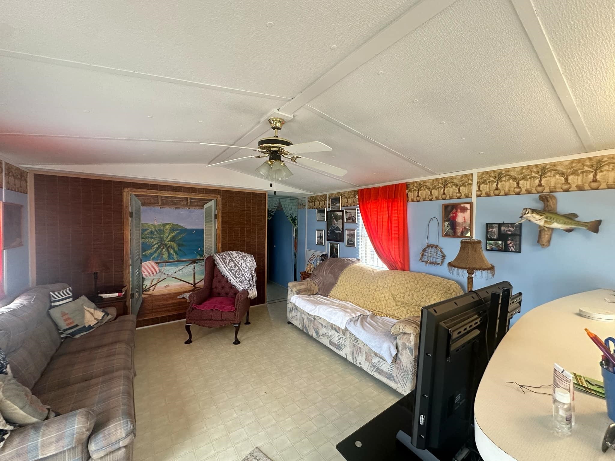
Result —
[[60, 59], [60, 58], [51, 58], [48, 56], [33, 55], [31, 53], [23, 53], [20, 51], [13, 51], [13, 50], [7, 50], [7, 49], [0, 49], [0, 56], [4, 56], [7, 58], [14, 58], [14, 59], [35, 61], [39, 63], [46, 63], [46, 64], [52, 64], [52, 65], [65, 66], [65, 67], [72, 67], [76, 69], [85, 69], [89, 71], [96, 71], [96, 72], [112, 74], [112, 75], [120, 75], [124, 77], [133, 77], [133, 78], [145, 79], [145, 80], [150, 80], [150, 81], [165, 82], [165, 83], [170, 83], [170, 84], [175, 84], [175, 85], [197, 87], [197, 88], [222, 91], [222, 92], [227, 92], [227, 93], [236, 93], [236, 94], [245, 95], [245, 96], [254, 96], [254, 97], [259, 97], [259, 98], [267, 98], [267, 99], [274, 99], [274, 100], [280, 100], [280, 101], [290, 100], [290, 98], [287, 98], [284, 96], [270, 95], [268, 93], [259, 93], [259, 92], [250, 91], [250, 90], [242, 90], [239, 88], [222, 87], [220, 85], [212, 85], [208, 83], [195, 82], [191, 80], [178, 79], [174, 77], [165, 77], [161, 75], [129, 71], [125, 69], [116, 69], [113, 67], [82, 63], [79, 61], [71, 61], [71, 60]]

